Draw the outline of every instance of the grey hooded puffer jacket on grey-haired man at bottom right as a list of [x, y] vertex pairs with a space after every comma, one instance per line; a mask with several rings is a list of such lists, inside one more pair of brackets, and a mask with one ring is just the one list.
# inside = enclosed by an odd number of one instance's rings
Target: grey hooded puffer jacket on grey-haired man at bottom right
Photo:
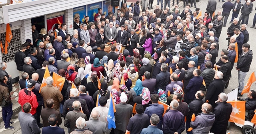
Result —
[[215, 121], [214, 113], [198, 114], [194, 122], [190, 122], [193, 134], [209, 134], [212, 124]]

